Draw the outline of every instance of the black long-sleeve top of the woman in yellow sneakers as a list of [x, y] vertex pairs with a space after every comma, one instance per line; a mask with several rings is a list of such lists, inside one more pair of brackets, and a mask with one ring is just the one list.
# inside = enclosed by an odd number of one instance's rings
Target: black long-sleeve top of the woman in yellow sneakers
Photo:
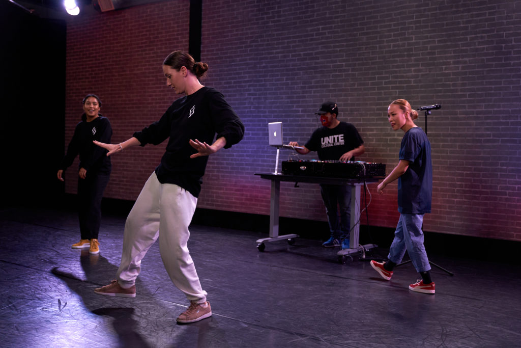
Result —
[[110, 143], [112, 127], [108, 118], [98, 116], [91, 122], [86, 121], [86, 115], [81, 116], [81, 122], [76, 125], [74, 135], [67, 147], [67, 153], [59, 165], [59, 169], [66, 170], [80, 154], [80, 168], [87, 171], [87, 175], [110, 174], [112, 169], [107, 150], [94, 145], [93, 140]]

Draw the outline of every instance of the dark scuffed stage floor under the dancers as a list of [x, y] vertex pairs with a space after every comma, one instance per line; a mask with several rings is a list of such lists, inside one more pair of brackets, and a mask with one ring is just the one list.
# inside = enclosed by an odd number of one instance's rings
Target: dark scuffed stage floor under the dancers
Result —
[[[50, 208], [50, 207], [49, 207]], [[125, 217], [105, 216], [101, 253], [73, 250], [76, 213], [0, 212], [2, 347], [514, 347], [521, 345], [521, 266], [429, 253], [436, 295], [414, 293], [412, 265], [384, 281], [367, 260], [342, 265], [319, 241], [192, 226], [189, 242], [213, 316], [176, 317], [187, 299], [169, 281], [155, 244], [137, 297], [93, 289], [114, 279]], [[384, 257], [376, 249], [373, 256]]]

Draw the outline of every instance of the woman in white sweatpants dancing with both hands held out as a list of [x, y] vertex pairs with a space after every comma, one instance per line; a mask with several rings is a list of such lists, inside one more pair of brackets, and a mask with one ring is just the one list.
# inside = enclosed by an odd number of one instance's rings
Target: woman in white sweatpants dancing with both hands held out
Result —
[[148, 178], [127, 218], [117, 280], [94, 292], [135, 297], [134, 284], [141, 260], [159, 238], [159, 251], [167, 273], [191, 302], [177, 318], [180, 323], [212, 315], [188, 250], [188, 226], [201, 191], [208, 155], [231, 147], [244, 135], [241, 120], [223, 95], [201, 85], [199, 79], [207, 69], [207, 64], [195, 63], [188, 53], [172, 52], [163, 62], [163, 73], [167, 86], [176, 94], [184, 93], [184, 97], [173, 102], [159, 121], [134, 133], [127, 141], [117, 145], [95, 142], [111, 155], [129, 147], [157, 145], [168, 139], [161, 162]]

